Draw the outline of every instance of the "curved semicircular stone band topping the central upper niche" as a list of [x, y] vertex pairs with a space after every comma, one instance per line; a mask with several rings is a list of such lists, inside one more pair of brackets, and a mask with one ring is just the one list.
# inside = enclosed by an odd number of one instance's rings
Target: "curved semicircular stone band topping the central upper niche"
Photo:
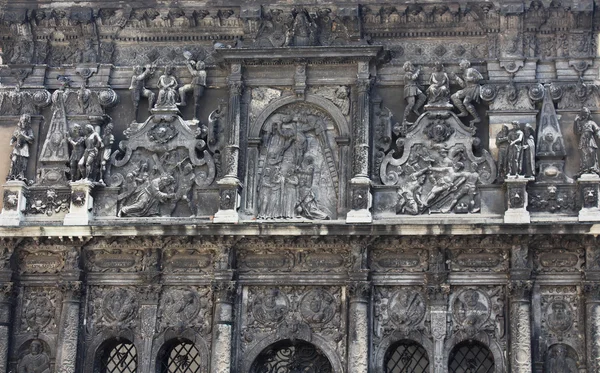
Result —
[[277, 100], [273, 100], [267, 107], [263, 109], [263, 111], [256, 117], [254, 123], [250, 124], [250, 130], [248, 131], [249, 138], [256, 138], [260, 136], [260, 131], [264, 126], [265, 122], [271, 114], [273, 114], [278, 109], [296, 103], [310, 103], [318, 106], [323, 109], [333, 118], [336, 123], [337, 129], [339, 131], [340, 136], [350, 136], [350, 125], [348, 121], [342, 114], [342, 111], [333, 104], [333, 102], [314, 94], [306, 94], [304, 99], [296, 97], [296, 96], [285, 96], [281, 97]]

